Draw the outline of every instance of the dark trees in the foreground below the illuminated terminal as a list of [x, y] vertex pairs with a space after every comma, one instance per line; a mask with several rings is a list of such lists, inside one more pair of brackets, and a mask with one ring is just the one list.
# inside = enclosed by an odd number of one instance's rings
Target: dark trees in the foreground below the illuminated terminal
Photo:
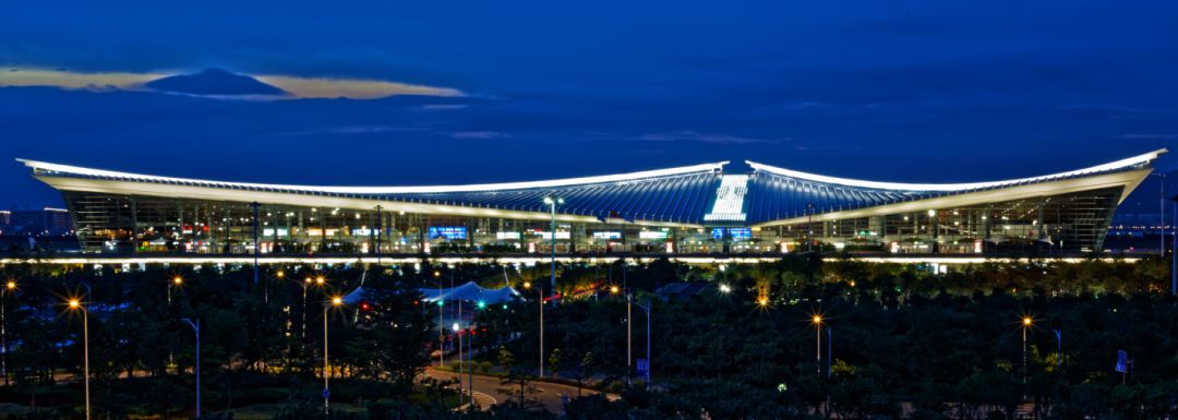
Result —
[[[273, 418], [322, 419], [325, 313], [332, 401], [348, 407], [332, 416], [555, 416], [527, 395], [451, 412], [445, 383], [422, 379], [438, 308], [416, 290], [450, 278], [510, 283], [532, 298], [477, 311], [477, 372], [508, 376], [505, 387], [535, 382], [543, 359], [545, 380], [622, 396], [574, 399], [564, 414], [575, 419], [1162, 419], [1178, 406], [1178, 301], [1160, 260], [947, 273], [806, 255], [727, 267], [562, 265], [557, 290], [567, 297], [544, 315], [543, 357], [534, 298], [548, 283], [545, 264], [263, 265], [257, 283], [249, 265], [2, 270], [16, 288], [4, 295], [11, 383], [0, 401], [24, 407], [12, 414], [22, 418], [80, 416], [81, 320], [64, 306], [70, 297], [88, 304], [94, 411], [104, 419], [193, 415], [185, 317], [201, 320], [204, 416], [273, 403], [283, 407]], [[655, 291], [684, 281], [710, 287]], [[325, 301], [362, 282], [370, 308], [325, 311]], [[627, 367], [627, 289], [634, 302], [651, 302], [649, 385]], [[633, 356], [644, 359], [646, 315], [630, 310]], [[1118, 350], [1131, 361], [1125, 374], [1114, 370]]]

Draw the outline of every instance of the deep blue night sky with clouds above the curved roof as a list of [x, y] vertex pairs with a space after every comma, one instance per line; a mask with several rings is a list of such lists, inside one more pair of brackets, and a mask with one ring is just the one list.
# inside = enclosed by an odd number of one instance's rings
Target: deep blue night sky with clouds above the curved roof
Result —
[[[0, 208], [60, 203], [16, 157], [332, 185], [726, 159], [964, 182], [1178, 143], [1173, 1], [329, 4], [6, 5]], [[148, 86], [205, 68], [285, 93]]]

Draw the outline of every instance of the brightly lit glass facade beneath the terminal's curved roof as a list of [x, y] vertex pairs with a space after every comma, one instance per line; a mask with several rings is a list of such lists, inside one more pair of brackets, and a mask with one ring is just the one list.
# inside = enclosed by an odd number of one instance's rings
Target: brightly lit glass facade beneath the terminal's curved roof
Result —
[[[1123, 192], [1106, 188], [984, 205], [748, 227], [558, 222], [558, 254], [1086, 252]], [[383, 255], [547, 254], [544, 219], [62, 192], [84, 252]], [[257, 215], [257, 223], [254, 223]], [[618, 223], [613, 223], [618, 222]], [[257, 241], [254, 239], [257, 237]]]

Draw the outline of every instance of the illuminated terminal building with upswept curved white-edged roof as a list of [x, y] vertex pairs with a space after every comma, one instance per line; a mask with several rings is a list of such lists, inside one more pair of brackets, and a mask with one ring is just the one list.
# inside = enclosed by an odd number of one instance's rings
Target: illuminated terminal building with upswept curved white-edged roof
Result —
[[[1021, 179], [905, 184], [747, 162], [536, 182], [311, 186], [20, 159], [110, 255], [1076, 255], [1165, 153]], [[555, 219], [556, 229], [551, 228]]]

